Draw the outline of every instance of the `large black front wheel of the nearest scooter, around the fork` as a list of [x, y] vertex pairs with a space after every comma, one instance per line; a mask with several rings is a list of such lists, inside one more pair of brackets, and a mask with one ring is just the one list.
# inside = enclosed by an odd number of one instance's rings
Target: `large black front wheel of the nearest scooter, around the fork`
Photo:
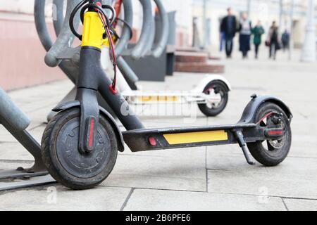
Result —
[[92, 153], [78, 150], [80, 110], [58, 113], [42, 137], [42, 158], [49, 174], [72, 189], [87, 189], [100, 184], [111, 173], [118, 155], [118, 140], [111, 124], [99, 117], [97, 146]]

